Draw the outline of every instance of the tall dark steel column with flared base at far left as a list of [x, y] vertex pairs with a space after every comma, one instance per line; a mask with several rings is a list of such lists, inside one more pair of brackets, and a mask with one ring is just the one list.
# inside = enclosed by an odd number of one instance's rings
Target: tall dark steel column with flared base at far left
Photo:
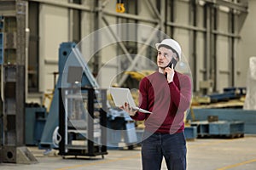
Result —
[[[34, 163], [25, 145], [25, 102], [26, 102], [26, 10], [22, 0], [1, 0], [3, 14], [2, 75], [3, 82], [3, 145], [0, 161], [12, 163]], [[3, 11], [3, 12], [2, 12]]]

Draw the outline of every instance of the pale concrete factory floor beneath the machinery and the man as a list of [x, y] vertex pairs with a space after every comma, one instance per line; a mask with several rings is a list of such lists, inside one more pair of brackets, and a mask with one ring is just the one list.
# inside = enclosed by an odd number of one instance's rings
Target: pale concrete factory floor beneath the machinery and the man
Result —
[[[256, 136], [238, 139], [195, 139], [188, 141], [188, 170], [255, 170]], [[0, 169], [86, 169], [86, 170], [135, 170], [142, 169], [140, 148], [134, 150], [108, 150], [108, 155], [82, 159], [57, 156], [57, 150], [44, 156], [44, 150], [29, 148], [38, 159], [37, 164], [0, 164]], [[163, 161], [162, 169], [166, 169]]]

